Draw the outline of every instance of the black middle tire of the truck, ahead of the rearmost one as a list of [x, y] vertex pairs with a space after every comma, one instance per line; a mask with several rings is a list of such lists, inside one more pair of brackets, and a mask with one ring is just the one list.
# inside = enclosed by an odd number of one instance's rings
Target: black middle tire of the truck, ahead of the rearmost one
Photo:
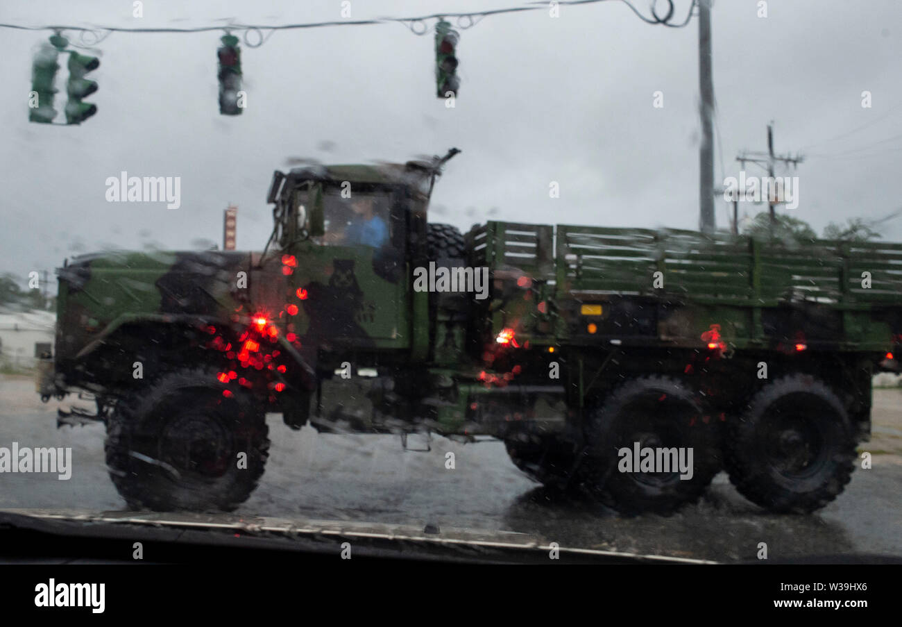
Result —
[[[628, 456], [620, 451], [628, 448], [632, 456], [635, 442], [640, 450], [676, 447], [677, 455], [691, 448], [691, 476], [681, 478], [678, 467], [671, 472], [632, 472], [630, 466], [628, 471]], [[586, 443], [580, 466], [585, 487], [625, 515], [667, 515], [694, 503], [720, 466], [713, 421], [705, 420], [693, 392], [666, 376], [640, 377], [614, 390], [588, 420]], [[684, 455], [688, 463], [688, 450]]]

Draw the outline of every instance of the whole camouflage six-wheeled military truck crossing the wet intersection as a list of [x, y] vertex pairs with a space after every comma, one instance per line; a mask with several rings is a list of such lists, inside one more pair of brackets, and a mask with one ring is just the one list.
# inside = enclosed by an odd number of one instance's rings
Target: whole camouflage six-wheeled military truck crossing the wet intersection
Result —
[[[498, 221], [462, 235], [427, 217], [456, 152], [276, 171], [261, 253], [58, 270], [41, 396], [97, 401], [58, 421], [106, 424], [129, 506], [237, 507], [263, 473], [268, 412], [292, 429], [498, 438], [541, 484], [628, 515], [673, 512], [722, 469], [774, 512], [842, 492], [871, 375], [898, 370], [902, 244]], [[323, 410], [364, 371], [366, 410]]]

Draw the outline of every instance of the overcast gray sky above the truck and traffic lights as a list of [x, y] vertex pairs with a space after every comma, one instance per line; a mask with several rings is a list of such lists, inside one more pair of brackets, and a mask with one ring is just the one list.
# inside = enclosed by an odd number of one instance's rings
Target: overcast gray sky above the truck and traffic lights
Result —
[[[353, 19], [514, 5], [351, 0]], [[649, 14], [648, 0], [635, 5]], [[676, 0], [676, 14], [688, 5]], [[0, 22], [302, 23], [341, 19], [341, 8], [341, 0], [146, 0], [135, 19], [131, 0], [5, 0]], [[757, 0], [713, 6], [715, 182], [738, 174], [741, 150], [766, 149], [772, 119], [777, 152], [808, 155], [792, 213], [818, 232], [902, 206], [902, 4], [770, 0], [767, 18], [758, 11]], [[97, 115], [71, 127], [28, 122], [32, 52], [49, 34], [3, 32], [0, 273], [24, 278], [105, 247], [221, 244], [230, 202], [239, 207], [238, 248], [260, 249], [272, 227], [266, 189], [287, 158], [405, 161], [451, 146], [463, 152], [437, 184], [432, 221], [698, 226], [695, 19], [684, 29], [652, 26], [616, 1], [562, 6], [557, 19], [547, 10], [488, 16], [461, 30], [455, 108], [435, 97], [431, 32], [397, 23], [275, 32], [242, 48], [248, 101], [235, 117], [218, 114], [222, 33], [113, 33], [89, 77], [99, 83], [87, 98]], [[657, 90], [663, 108], [652, 106]], [[865, 90], [871, 108], [861, 106]], [[181, 177], [181, 207], [106, 202], [106, 179], [121, 171]], [[552, 180], [560, 198], [548, 198]], [[715, 210], [727, 226], [727, 203]], [[883, 233], [902, 240], [902, 218]]]

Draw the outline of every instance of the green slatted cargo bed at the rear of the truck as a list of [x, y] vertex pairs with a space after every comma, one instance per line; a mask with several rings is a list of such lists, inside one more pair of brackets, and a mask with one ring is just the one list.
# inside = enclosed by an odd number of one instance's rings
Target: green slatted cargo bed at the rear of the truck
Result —
[[608, 328], [603, 314], [589, 341], [637, 336], [698, 344], [719, 325], [738, 348], [802, 342], [882, 351], [902, 333], [902, 244], [784, 245], [676, 229], [496, 221], [474, 226], [467, 242], [472, 265], [553, 286], [548, 294], [565, 320], [558, 337], [585, 335], [574, 327], [573, 303], [608, 303], [603, 310], [616, 317], [616, 303], [624, 301], [653, 310], [653, 331]]

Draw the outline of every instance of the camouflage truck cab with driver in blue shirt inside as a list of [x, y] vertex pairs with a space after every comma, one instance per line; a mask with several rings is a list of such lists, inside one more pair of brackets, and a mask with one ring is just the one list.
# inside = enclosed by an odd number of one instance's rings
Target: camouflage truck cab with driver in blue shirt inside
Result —
[[329, 370], [345, 360], [400, 364], [428, 354], [428, 332], [415, 324], [428, 294], [411, 289], [410, 275], [428, 258], [437, 168], [409, 161], [273, 174], [274, 229], [262, 259], [278, 260], [281, 292], [257, 300], [284, 301], [272, 313], [300, 338], [308, 364]]

